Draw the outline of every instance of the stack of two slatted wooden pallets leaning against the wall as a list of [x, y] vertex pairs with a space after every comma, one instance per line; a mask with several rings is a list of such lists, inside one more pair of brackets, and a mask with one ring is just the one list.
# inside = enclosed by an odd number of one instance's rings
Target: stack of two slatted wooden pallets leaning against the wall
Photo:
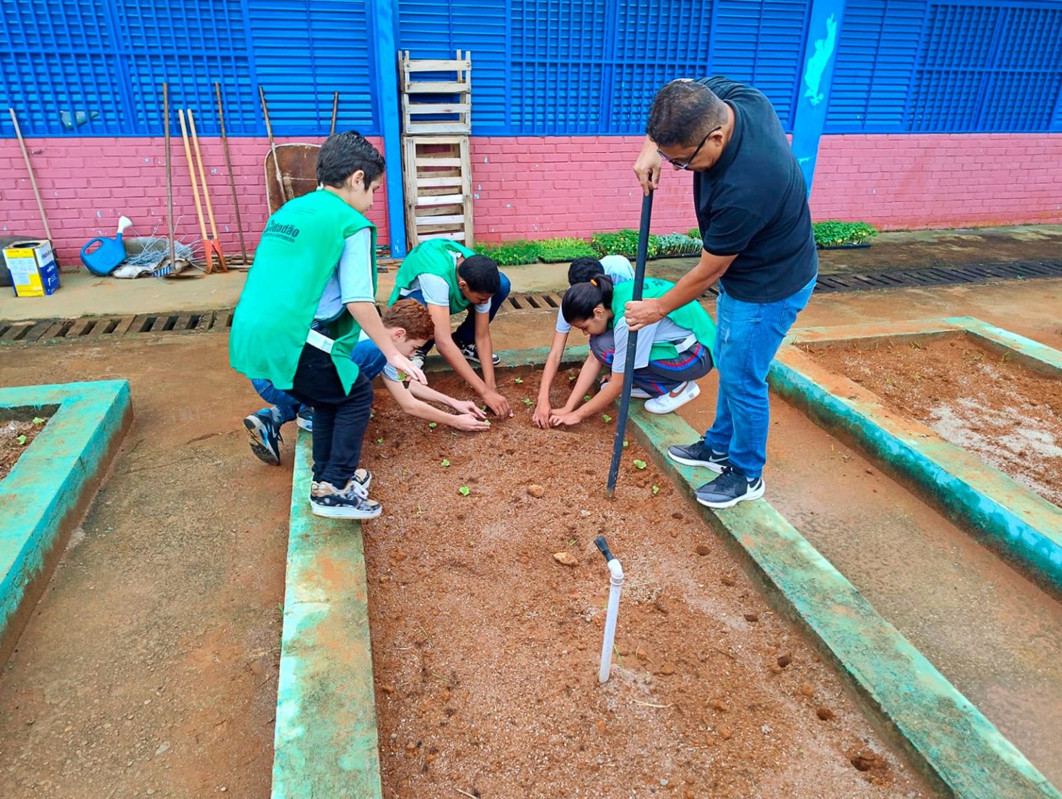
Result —
[[472, 54], [398, 58], [409, 246], [438, 238], [472, 246]]

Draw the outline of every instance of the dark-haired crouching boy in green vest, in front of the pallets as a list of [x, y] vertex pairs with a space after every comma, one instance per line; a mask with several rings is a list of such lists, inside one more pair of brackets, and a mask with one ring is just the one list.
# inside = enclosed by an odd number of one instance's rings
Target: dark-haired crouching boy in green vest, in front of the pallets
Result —
[[[500, 359], [494, 354], [490, 325], [509, 290], [509, 278], [498, 272], [492, 259], [449, 239], [429, 239], [406, 256], [388, 300], [388, 305], [394, 305], [409, 298], [427, 306], [435, 337], [422, 350], [419, 363], [434, 345], [453, 371], [502, 418], [513, 412], [494, 378]], [[450, 316], [463, 312], [467, 312], [464, 320], [451, 333]], [[469, 361], [480, 364], [482, 379]], [[416, 355], [413, 362], [417, 363]]]

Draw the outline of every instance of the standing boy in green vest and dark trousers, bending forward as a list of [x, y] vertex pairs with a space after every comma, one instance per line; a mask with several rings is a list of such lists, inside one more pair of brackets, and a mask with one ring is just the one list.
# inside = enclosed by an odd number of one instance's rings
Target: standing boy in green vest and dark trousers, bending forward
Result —
[[362, 330], [388, 363], [426, 382], [376, 311], [376, 227], [364, 214], [383, 179], [383, 156], [353, 131], [329, 136], [314, 192], [266, 225], [233, 316], [229, 364], [314, 409], [310, 507], [333, 519], [380, 515], [359, 469], [373, 387], [350, 352]]

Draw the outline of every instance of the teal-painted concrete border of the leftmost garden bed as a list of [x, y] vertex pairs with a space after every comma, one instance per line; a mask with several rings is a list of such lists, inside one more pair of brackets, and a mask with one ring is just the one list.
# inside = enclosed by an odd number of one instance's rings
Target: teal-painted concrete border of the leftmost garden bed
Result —
[[36, 598], [28, 587], [44, 576], [132, 417], [124, 380], [0, 388], [0, 407], [49, 406], [57, 410], [0, 481], [0, 640], [17, 635], [8, 625]]

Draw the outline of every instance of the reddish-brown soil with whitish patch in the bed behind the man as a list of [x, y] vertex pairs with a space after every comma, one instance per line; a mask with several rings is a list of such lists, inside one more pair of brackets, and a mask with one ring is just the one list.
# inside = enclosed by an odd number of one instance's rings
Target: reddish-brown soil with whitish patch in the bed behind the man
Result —
[[961, 334], [807, 351], [892, 410], [1062, 505], [1062, 380]]

